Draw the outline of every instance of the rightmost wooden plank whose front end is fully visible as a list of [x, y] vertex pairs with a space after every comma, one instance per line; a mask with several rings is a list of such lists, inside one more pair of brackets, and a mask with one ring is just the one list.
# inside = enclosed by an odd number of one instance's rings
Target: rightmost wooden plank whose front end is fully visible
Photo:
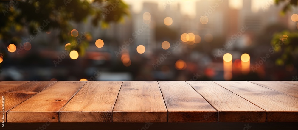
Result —
[[187, 83], [218, 110], [219, 122], [266, 122], [266, 111], [212, 81]]

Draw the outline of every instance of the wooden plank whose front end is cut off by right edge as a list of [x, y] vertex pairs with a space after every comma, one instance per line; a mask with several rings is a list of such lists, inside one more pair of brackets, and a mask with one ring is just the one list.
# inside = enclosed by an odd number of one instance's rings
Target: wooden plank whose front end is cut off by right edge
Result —
[[297, 122], [298, 98], [247, 81], [214, 81], [267, 112], [267, 122]]

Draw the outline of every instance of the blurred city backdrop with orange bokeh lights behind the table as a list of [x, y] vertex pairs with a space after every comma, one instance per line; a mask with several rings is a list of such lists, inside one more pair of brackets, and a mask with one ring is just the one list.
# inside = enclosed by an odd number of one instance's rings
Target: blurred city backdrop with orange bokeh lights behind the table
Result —
[[[59, 40], [59, 28], [51, 28], [28, 42], [31, 34], [24, 29], [27, 33], [16, 35], [30, 48], [15, 52], [11, 49], [21, 44], [0, 46], [7, 52], [0, 80], [291, 80], [297, 75], [298, 49], [290, 52], [291, 62], [283, 54], [284, 41], [297, 43], [291, 34], [298, 29], [297, 7], [281, 13], [286, 2], [125, 2], [130, 15], [120, 23], [94, 26], [91, 16], [72, 21], [67, 36], [73, 41]], [[279, 47], [273, 44], [277, 33], [283, 33]]]

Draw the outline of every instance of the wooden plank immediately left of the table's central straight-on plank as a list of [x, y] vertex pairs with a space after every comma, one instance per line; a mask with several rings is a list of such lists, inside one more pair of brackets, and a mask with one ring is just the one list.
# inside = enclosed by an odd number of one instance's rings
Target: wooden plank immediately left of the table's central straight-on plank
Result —
[[61, 109], [59, 122], [112, 122], [122, 81], [89, 81]]

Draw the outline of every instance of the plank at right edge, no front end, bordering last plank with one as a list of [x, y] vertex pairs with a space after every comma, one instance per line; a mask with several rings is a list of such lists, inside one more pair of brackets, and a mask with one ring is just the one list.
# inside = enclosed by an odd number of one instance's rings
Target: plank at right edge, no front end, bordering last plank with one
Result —
[[298, 86], [280, 81], [249, 81], [260, 86], [298, 98]]

